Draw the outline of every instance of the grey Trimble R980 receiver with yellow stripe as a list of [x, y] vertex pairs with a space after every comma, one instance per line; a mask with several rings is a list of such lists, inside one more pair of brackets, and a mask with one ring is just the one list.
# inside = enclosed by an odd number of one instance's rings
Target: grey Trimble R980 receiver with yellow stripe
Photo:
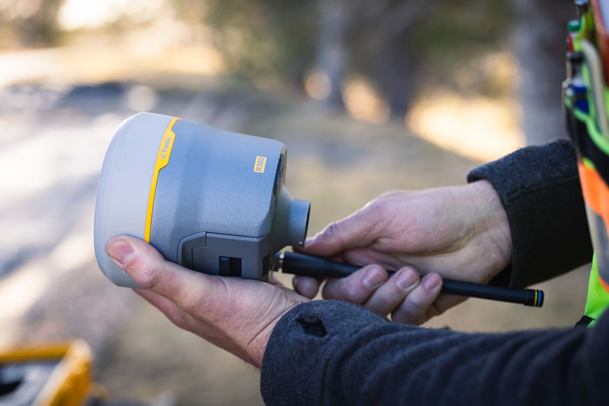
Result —
[[208, 125], [139, 113], [114, 133], [97, 189], [97, 264], [138, 287], [104, 251], [129, 234], [171, 262], [210, 275], [267, 281], [275, 253], [305, 242], [309, 201], [284, 181], [286, 145]]

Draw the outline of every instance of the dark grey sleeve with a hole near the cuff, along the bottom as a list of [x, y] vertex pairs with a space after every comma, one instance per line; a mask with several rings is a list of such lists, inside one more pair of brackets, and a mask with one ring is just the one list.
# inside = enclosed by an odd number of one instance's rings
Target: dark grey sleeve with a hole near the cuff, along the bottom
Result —
[[267, 405], [607, 405], [609, 314], [586, 329], [471, 334], [390, 323], [339, 301], [273, 329]]

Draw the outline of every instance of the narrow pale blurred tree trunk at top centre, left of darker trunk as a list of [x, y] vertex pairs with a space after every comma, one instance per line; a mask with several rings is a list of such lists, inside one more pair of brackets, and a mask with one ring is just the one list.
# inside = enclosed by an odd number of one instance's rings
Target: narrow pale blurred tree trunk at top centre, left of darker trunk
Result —
[[346, 74], [348, 4], [345, 0], [319, 0], [322, 26], [319, 30], [316, 69], [328, 75], [331, 88], [324, 100], [327, 107], [343, 109], [341, 85]]

